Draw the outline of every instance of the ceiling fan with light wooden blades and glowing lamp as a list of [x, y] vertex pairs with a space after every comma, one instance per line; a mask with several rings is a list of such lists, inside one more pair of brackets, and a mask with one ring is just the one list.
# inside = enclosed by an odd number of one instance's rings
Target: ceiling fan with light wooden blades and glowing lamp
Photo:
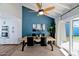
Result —
[[38, 8], [38, 15], [47, 15], [49, 11], [53, 10], [54, 6], [49, 6], [47, 8], [42, 8], [42, 3], [36, 3], [36, 6]]

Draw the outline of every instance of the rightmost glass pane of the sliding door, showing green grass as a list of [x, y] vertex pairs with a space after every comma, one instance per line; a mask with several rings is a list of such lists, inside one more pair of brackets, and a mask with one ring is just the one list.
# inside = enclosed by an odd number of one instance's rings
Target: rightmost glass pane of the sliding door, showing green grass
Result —
[[72, 21], [72, 52], [79, 55], [79, 19]]

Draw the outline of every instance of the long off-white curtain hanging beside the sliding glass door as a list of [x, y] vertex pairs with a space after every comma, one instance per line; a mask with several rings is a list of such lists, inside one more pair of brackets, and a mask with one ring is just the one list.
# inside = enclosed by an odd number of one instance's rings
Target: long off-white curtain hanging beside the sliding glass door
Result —
[[61, 20], [61, 17], [56, 19], [56, 43], [57, 46], [61, 45], [61, 40], [66, 39], [65, 34], [65, 22]]

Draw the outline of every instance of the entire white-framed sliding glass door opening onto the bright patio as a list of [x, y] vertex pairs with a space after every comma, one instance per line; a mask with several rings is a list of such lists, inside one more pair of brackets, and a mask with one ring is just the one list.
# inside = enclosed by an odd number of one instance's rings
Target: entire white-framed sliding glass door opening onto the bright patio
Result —
[[64, 23], [62, 29], [64, 37], [61, 35], [61, 48], [71, 55], [79, 56], [79, 19]]

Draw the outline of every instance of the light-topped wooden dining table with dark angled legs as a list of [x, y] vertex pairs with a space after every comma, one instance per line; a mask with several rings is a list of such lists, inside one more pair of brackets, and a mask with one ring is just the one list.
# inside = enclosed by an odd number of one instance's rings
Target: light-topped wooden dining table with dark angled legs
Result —
[[[38, 36], [27, 36], [27, 37], [24, 37], [23, 41], [22, 41], [22, 51], [24, 51], [24, 47], [27, 44], [27, 38], [28, 37], [33, 37], [34, 44], [46, 43], [46, 46], [47, 46], [47, 44], [49, 44], [51, 46], [51, 51], [53, 51], [52, 41], [48, 41], [46, 36], [41, 36], [41, 37], [38, 37]], [[42, 39], [42, 38], [45, 38], [45, 39]], [[45, 41], [45, 42], [42, 42], [42, 41]]]

